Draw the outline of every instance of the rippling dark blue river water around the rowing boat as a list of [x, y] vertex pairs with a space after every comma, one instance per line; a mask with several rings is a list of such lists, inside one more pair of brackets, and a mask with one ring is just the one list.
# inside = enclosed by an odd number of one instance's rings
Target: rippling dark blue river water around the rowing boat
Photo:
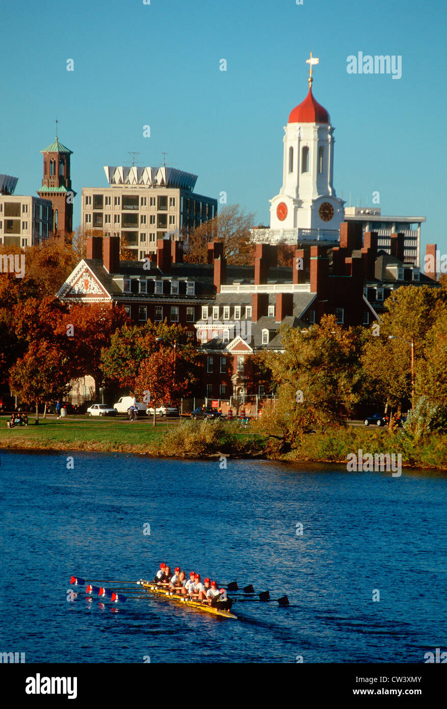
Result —
[[[445, 474], [79, 452], [67, 469], [68, 455], [1, 453], [1, 651], [27, 662], [423, 662], [446, 646]], [[290, 606], [239, 602], [238, 620], [220, 620], [132, 596], [87, 603], [80, 588], [67, 600], [72, 574], [149, 578], [161, 561], [286, 593]]]

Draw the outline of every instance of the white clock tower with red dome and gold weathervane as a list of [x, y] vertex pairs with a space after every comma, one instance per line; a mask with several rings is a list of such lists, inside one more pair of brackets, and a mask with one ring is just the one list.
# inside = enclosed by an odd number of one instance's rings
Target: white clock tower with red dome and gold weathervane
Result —
[[312, 65], [318, 62], [311, 52], [309, 93], [284, 128], [283, 186], [270, 200], [271, 229], [339, 230], [344, 220], [344, 201], [333, 185], [334, 127], [312, 94]]

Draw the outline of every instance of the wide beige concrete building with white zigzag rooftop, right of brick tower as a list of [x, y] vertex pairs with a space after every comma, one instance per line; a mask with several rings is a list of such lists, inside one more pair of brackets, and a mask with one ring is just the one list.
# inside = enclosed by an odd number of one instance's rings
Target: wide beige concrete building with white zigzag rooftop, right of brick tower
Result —
[[120, 236], [135, 260], [157, 252], [157, 241], [187, 238], [217, 214], [217, 200], [196, 194], [197, 175], [171, 167], [104, 167], [109, 187], [82, 188], [81, 224]]

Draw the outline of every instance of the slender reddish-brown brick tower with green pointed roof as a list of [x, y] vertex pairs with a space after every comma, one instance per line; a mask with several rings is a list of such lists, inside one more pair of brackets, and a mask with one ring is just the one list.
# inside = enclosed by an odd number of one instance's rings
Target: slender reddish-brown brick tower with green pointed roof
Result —
[[76, 195], [70, 177], [70, 155], [73, 151], [57, 138], [57, 121], [55, 142], [40, 152], [43, 153], [43, 180], [37, 193], [52, 202], [52, 236], [67, 238], [73, 231], [73, 198]]

